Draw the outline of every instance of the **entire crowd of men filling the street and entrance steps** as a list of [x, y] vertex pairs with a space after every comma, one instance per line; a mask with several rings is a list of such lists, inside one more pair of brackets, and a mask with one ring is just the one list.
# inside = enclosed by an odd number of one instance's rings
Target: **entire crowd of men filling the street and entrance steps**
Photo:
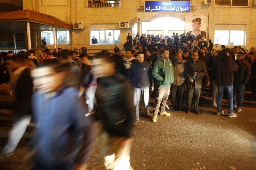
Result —
[[[245, 55], [239, 47], [230, 51], [222, 46], [217, 52], [206, 42], [200, 47], [189, 46], [188, 38], [181, 41], [175, 33], [171, 40], [154, 35], [147, 39], [138, 34], [132, 40], [128, 35], [125, 51], [116, 47], [113, 55], [102, 50], [96, 57], [88, 55], [86, 47], [80, 49], [79, 56], [74, 49], [51, 52], [45, 46], [37, 56], [33, 50], [18, 55], [3, 52], [1, 70], [5, 72], [1, 71], [1, 79], [11, 82], [13, 111], [18, 119], [1, 158], [12, 155], [32, 120], [37, 129], [32, 169], [85, 168], [94, 139], [94, 119], [103, 127], [106, 168], [129, 169], [131, 136], [139, 121], [141, 95], [145, 114], [152, 122], [158, 115], [170, 116], [166, 112], [169, 109], [200, 114], [199, 100], [204, 99], [207, 77], [212, 107], [218, 116], [224, 114], [223, 94], [229, 118], [237, 116], [233, 108], [236, 112], [242, 110], [247, 84], [256, 99], [255, 47]], [[149, 91], [156, 93], [152, 117]], [[171, 106], [167, 105], [169, 95]]]

